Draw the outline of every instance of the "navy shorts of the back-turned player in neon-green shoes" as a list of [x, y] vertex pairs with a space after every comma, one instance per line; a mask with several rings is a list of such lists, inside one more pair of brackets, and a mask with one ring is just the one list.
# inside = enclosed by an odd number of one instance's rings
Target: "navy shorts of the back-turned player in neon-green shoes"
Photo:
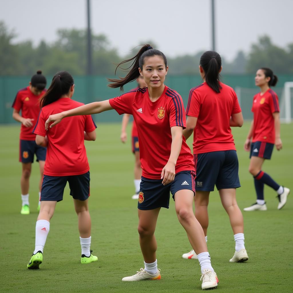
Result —
[[90, 196], [90, 172], [73, 176], [44, 175], [41, 198], [46, 201], [61, 201], [66, 183], [69, 183], [70, 195], [75, 200], [86, 200]]

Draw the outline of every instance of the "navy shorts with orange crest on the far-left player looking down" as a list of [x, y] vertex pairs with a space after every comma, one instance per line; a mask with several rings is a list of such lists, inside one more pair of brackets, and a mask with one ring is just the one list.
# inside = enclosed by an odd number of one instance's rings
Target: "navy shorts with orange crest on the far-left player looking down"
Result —
[[46, 160], [47, 148], [40, 147], [34, 140], [20, 140], [19, 142], [19, 161], [22, 163], [33, 163], [34, 154], [38, 161]]

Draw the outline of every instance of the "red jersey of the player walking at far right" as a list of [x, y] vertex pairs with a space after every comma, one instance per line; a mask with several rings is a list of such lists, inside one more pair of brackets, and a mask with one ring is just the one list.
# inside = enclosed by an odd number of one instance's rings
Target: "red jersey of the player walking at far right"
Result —
[[251, 111], [253, 112], [252, 142], [275, 143], [275, 120], [272, 113], [280, 112], [277, 94], [268, 89], [262, 96], [253, 97]]

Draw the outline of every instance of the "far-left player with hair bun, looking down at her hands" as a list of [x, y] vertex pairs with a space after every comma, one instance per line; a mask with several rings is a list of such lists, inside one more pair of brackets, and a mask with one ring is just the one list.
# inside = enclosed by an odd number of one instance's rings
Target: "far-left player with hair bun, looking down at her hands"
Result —
[[[42, 177], [46, 159], [46, 148], [40, 147], [35, 143], [35, 134], [32, 133], [37, 122], [40, 112], [40, 98], [45, 94], [45, 86], [47, 84], [42, 71], [37, 71], [33, 75], [29, 86], [19, 90], [12, 104], [14, 120], [21, 122], [20, 142], [19, 142], [19, 161], [22, 163], [21, 172], [21, 214], [27, 215], [30, 213], [29, 203], [29, 180], [34, 155], [37, 157], [40, 167], [40, 182], [39, 182], [39, 199], [42, 186]], [[21, 111], [21, 115], [19, 114]], [[40, 210], [40, 201], [38, 204]]]

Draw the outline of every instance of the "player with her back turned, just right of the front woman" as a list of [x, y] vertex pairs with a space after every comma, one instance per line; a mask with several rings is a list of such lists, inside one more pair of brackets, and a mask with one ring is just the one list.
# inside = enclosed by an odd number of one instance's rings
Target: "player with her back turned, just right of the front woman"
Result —
[[[206, 51], [200, 58], [199, 69], [204, 82], [190, 90], [186, 129], [183, 130], [186, 139], [194, 132], [195, 216], [207, 241], [209, 193], [216, 185], [234, 233], [235, 253], [230, 262], [243, 262], [248, 260], [248, 255], [244, 246], [243, 217], [236, 202], [236, 188], [240, 187], [240, 182], [230, 128], [241, 127], [243, 116], [234, 90], [219, 81], [221, 56], [217, 52]], [[182, 257], [197, 258], [194, 250]]]

